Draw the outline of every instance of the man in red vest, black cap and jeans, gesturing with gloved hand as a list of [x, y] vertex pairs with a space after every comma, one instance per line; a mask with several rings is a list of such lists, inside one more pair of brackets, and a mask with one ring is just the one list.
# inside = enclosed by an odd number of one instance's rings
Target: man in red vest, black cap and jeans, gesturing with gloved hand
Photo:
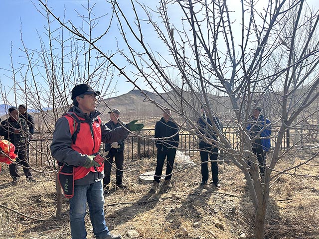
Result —
[[[99, 154], [99, 149], [101, 142], [121, 140], [127, 136], [128, 130], [137, 131], [144, 127], [143, 124], [137, 124], [137, 120], [133, 120], [126, 124], [126, 127], [110, 130], [102, 123], [100, 113], [96, 111], [98, 95], [100, 92], [94, 91], [87, 84], [73, 88], [71, 99], [74, 106], [67, 115], [56, 121], [50, 146], [51, 154], [56, 160], [73, 168], [74, 192], [73, 197], [69, 199], [72, 239], [86, 239], [86, 203], [89, 206], [93, 233], [97, 239], [122, 238], [120, 235], [110, 234], [105, 223], [101, 183], [104, 176], [104, 158]], [[74, 120], [75, 115], [81, 120], [80, 127]]]

